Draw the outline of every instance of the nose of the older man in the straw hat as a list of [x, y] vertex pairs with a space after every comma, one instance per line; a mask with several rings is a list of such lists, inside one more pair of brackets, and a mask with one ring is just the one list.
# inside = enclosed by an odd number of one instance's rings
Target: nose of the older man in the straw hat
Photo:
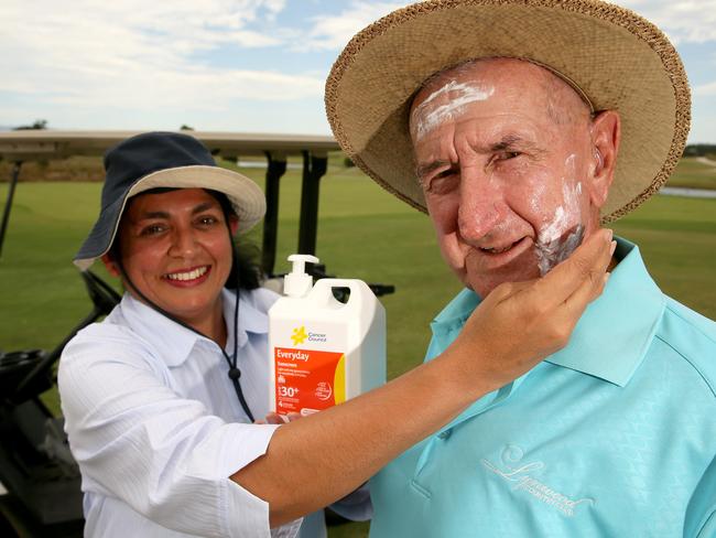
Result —
[[[466, 173], [467, 172], [467, 173]], [[507, 214], [499, 181], [479, 169], [462, 173], [457, 224], [466, 240], [478, 240]]]

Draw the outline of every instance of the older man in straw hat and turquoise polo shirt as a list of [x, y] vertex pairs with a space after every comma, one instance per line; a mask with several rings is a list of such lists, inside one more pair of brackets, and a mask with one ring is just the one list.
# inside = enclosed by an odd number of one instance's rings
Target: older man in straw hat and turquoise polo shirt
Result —
[[[428, 213], [466, 287], [428, 362], [497, 286], [653, 194], [688, 125], [663, 34], [589, 0], [399, 10], [347, 45], [326, 104], [351, 159]], [[611, 268], [565, 348], [377, 475], [371, 536], [716, 536], [716, 327], [661, 293], [634, 245]]]

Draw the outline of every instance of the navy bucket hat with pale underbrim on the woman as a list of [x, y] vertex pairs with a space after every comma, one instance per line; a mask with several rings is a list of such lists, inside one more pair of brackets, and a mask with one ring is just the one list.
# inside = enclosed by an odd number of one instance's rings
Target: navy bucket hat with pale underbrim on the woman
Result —
[[107, 254], [115, 240], [127, 201], [158, 187], [210, 189], [224, 193], [239, 217], [238, 233], [253, 227], [265, 213], [265, 197], [250, 179], [216, 164], [194, 137], [145, 132], [105, 153], [105, 185], [99, 217], [74, 262], [85, 270]]

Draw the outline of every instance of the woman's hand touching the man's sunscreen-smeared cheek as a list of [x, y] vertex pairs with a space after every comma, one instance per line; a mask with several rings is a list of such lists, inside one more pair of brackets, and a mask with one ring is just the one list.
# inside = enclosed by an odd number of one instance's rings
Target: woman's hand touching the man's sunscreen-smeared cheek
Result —
[[462, 359], [471, 380], [495, 389], [564, 347], [587, 304], [604, 290], [616, 246], [611, 235], [597, 230], [541, 279], [498, 286], [443, 355]]

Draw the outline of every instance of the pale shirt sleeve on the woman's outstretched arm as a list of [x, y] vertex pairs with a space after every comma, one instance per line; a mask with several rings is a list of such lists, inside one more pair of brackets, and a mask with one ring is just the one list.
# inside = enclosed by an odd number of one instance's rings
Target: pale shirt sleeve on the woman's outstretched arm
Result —
[[227, 423], [180, 397], [123, 327], [93, 325], [65, 348], [58, 387], [83, 489], [166, 528], [269, 537], [268, 503], [229, 476], [265, 453], [276, 426]]

